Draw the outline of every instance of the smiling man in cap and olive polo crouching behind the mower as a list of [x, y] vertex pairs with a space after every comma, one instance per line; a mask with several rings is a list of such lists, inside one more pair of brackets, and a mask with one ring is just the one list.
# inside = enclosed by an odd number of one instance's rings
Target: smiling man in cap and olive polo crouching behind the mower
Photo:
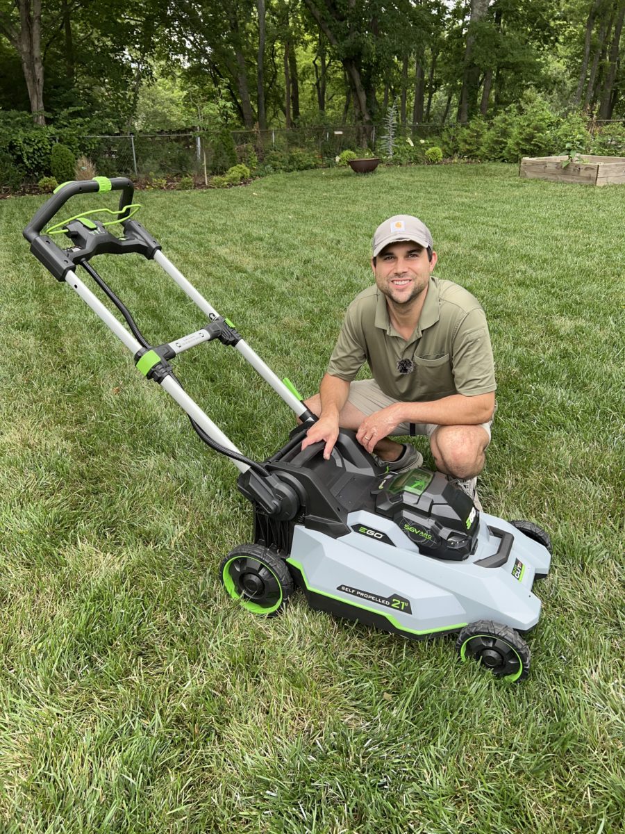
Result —
[[[373, 235], [376, 285], [350, 304], [319, 393], [306, 404], [319, 420], [302, 448], [325, 441], [328, 460], [339, 426], [389, 470], [423, 464], [413, 446], [389, 435], [426, 435], [434, 462], [476, 493], [495, 410], [493, 350], [473, 295], [433, 275], [432, 235], [398, 214]], [[373, 379], [354, 381], [367, 361]]]

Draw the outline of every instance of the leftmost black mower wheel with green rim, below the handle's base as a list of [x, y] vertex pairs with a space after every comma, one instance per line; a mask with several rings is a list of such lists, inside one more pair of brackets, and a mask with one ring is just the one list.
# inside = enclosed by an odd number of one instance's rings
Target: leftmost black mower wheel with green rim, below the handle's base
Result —
[[235, 547], [219, 565], [219, 576], [228, 595], [253, 614], [278, 614], [293, 593], [286, 563], [263, 545]]

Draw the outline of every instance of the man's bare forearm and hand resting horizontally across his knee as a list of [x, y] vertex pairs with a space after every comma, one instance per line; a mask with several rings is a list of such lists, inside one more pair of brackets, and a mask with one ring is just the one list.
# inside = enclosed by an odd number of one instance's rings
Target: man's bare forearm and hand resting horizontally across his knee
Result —
[[357, 440], [371, 452], [378, 440], [393, 435], [400, 423], [436, 423], [438, 425], [480, 425], [487, 423], [495, 409], [495, 392], [451, 394], [425, 403], [394, 403], [370, 414], [360, 424]]

